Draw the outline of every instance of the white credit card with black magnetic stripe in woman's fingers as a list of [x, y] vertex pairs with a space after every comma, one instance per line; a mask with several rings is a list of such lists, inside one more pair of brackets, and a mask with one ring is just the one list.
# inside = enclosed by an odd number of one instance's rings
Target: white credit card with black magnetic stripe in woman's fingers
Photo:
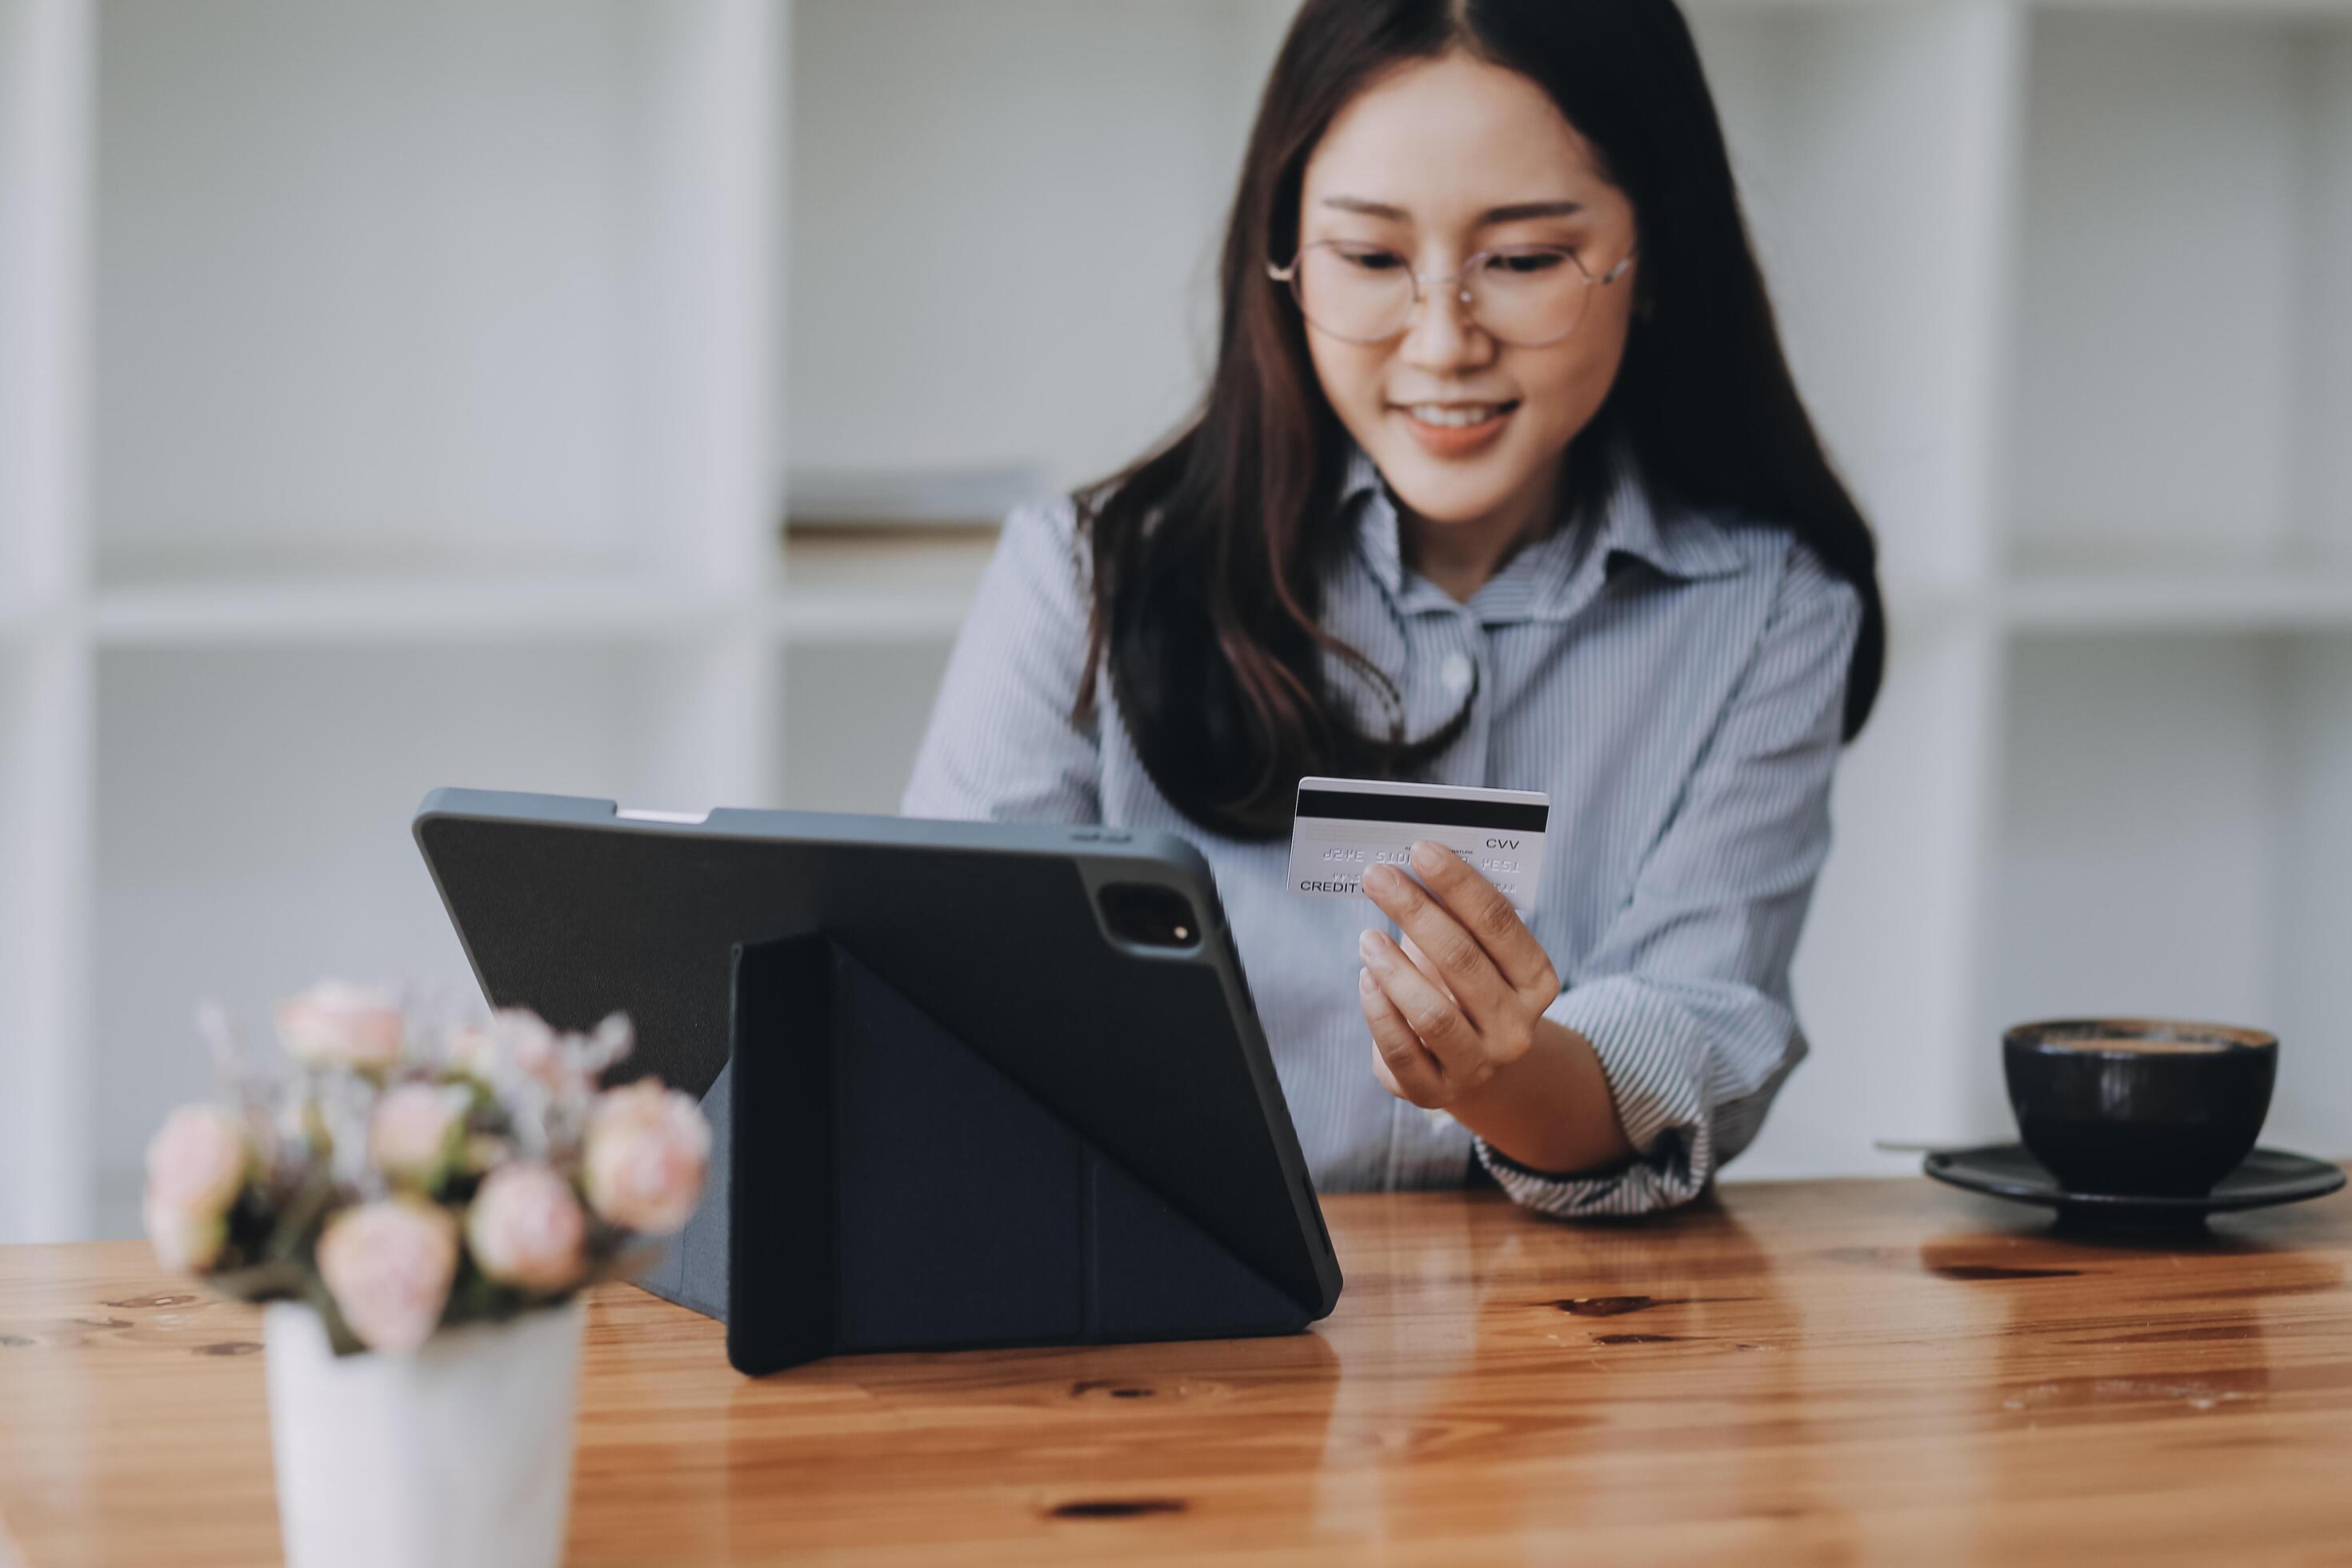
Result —
[[1395, 865], [1411, 875], [1414, 842], [1435, 839], [1524, 914], [1536, 907], [1550, 816], [1552, 797], [1541, 790], [1301, 778], [1291, 891], [1362, 898], [1367, 870]]

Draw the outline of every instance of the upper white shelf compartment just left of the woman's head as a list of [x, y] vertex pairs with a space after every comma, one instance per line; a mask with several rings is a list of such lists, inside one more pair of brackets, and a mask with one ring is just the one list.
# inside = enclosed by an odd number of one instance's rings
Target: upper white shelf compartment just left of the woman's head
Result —
[[1068, 489], [1167, 435], [1214, 346], [1216, 235], [1289, 9], [800, 0], [793, 463]]

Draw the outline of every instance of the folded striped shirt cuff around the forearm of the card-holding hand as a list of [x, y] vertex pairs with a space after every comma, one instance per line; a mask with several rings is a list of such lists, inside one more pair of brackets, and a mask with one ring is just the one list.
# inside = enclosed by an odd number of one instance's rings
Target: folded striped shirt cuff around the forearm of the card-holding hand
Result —
[[1602, 1175], [1545, 1175], [1475, 1138], [1512, 1201], [1550, 1215], [1632, 1215], [1689, 1204], [1715, 1173], [1708, 1037], [1698, 1018], [1637, 976], [1559, 992], [1543, 1016], [1592, 1041], [1637, 1161]]

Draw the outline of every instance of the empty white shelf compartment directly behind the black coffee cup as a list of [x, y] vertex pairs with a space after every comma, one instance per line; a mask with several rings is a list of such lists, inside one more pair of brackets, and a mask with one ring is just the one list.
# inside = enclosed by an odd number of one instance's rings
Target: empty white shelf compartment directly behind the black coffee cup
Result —
[[2352, 635], [2027, 639], [2006, 682], [1997, 1023], [2277, 1030], [2265, 1138], [2340, 1152]]

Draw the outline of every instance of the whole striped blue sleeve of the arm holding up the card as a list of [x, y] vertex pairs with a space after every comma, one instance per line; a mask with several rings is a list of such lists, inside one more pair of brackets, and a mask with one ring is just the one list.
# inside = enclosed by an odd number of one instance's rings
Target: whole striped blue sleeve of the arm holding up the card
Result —
[[1630, 1215], [1698, 1197], [1804, 1058], [1788, 969], [1830, 851], [1860, 595], [1790, 545], [1780, 592], [1632, 898], [1545, 1016], [1592, 1041], [1635, 1161], [1555, 1178], [1477, 1140], [1526, 1208]]

